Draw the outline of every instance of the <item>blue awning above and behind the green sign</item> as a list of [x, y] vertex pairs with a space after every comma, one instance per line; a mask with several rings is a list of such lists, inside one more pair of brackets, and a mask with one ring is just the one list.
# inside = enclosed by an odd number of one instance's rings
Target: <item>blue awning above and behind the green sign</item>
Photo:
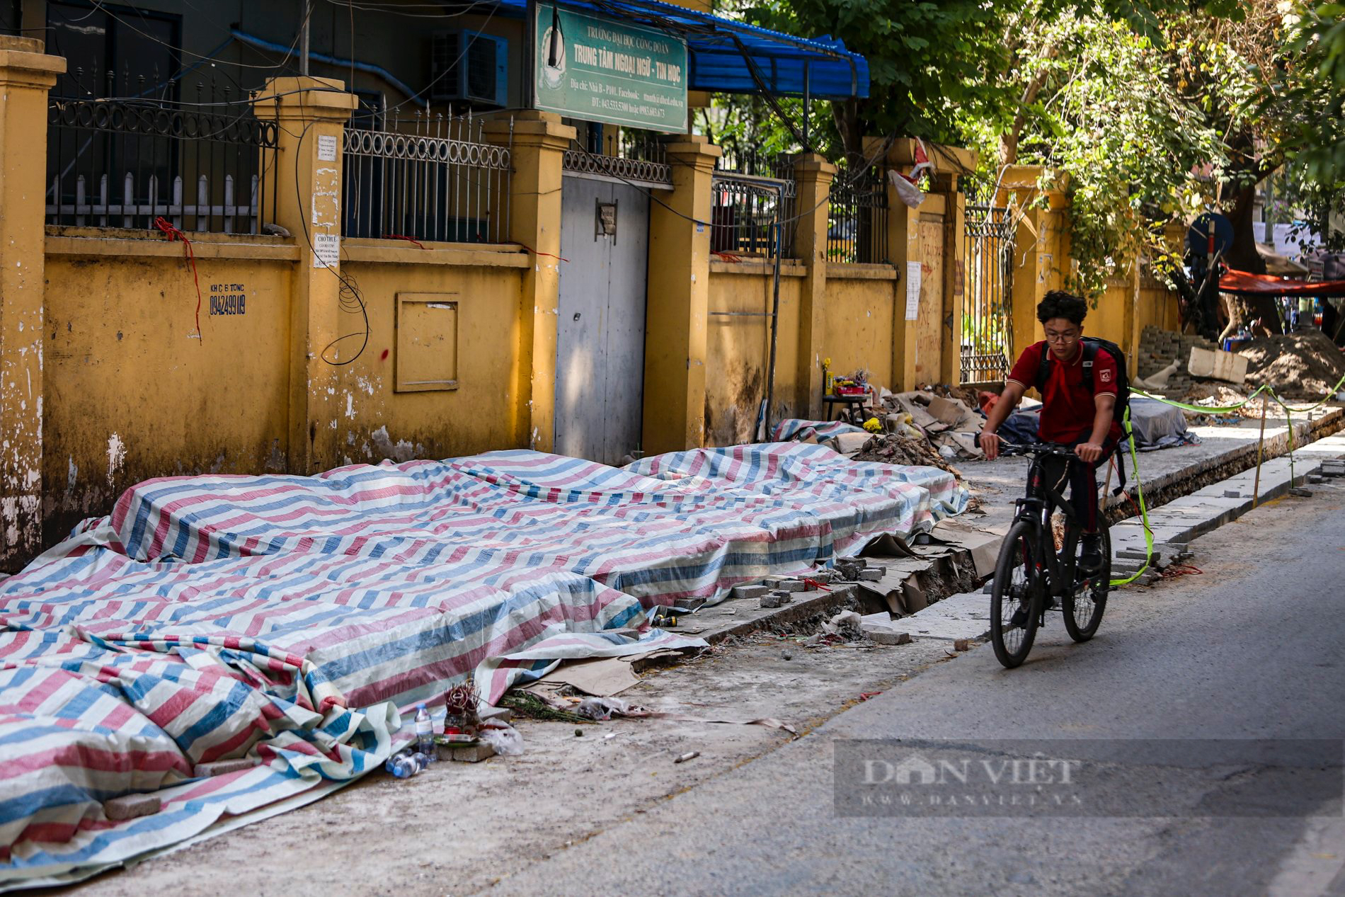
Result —
[[[550, 7], [551, 0], [538, 0]], [[527, 9], [527, 0], [500, 0]], [[869, 95], [869, 63], [830, 35], [795, 38], [659, 0], [561, 0], [566, 9], [660, 28], [687, 43], [691, 90], [771, 93], [816, 100]]]

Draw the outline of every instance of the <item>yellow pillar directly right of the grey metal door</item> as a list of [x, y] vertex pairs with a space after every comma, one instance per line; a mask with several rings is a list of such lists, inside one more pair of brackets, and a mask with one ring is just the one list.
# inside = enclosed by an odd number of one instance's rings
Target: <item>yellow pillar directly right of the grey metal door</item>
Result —
[[710, 207], [718, 147], [705, 137], [667, 144], [672, 192], [650, 207], [644, 325], [646, 455], [705, 442], [705, 362], [710, 301]]

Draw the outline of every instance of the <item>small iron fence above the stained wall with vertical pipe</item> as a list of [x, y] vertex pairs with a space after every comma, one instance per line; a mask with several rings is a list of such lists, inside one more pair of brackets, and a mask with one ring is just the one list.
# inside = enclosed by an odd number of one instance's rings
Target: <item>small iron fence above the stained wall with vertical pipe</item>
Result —
[[798, 184], [790, 156], [726, 148], [712, 187], [710, 251], [775, 258], [776, 223], [783, 223], [780, 257], [794, 256]]

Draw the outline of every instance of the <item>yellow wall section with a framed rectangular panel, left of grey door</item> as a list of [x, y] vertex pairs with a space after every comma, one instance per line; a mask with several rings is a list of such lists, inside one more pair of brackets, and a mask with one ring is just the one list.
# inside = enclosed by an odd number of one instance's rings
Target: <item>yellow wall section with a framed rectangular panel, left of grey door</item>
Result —
[[[334, 424], [343, 463], [527, 446], [515, 377], [523, 363], [521, 268], [346, 262], [342, 269], [359, 284], [370, 325], [369, 347], [338, 387]], [[398, 293], [443, 293], [457, 303], [457, 389], [394, 391]], [[343, 319], [343, 332], [363, 327], [356, 315]]]

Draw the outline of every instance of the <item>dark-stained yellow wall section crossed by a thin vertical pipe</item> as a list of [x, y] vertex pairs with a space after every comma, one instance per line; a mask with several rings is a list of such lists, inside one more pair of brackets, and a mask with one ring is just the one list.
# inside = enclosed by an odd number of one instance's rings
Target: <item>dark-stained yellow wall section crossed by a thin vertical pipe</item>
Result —
[[[772, 422], [798, 417], [795, 379], [802, 274], [802, 266], [785, 265], [780, 277]], [[713, 262], [710, 266], [712, 312], [769, 313], [772, 295], [769, 265]], [[706, 325], [705, 444], [751, 442], [757, 410], [765, 398], [771, 319], [710, 315]]]

